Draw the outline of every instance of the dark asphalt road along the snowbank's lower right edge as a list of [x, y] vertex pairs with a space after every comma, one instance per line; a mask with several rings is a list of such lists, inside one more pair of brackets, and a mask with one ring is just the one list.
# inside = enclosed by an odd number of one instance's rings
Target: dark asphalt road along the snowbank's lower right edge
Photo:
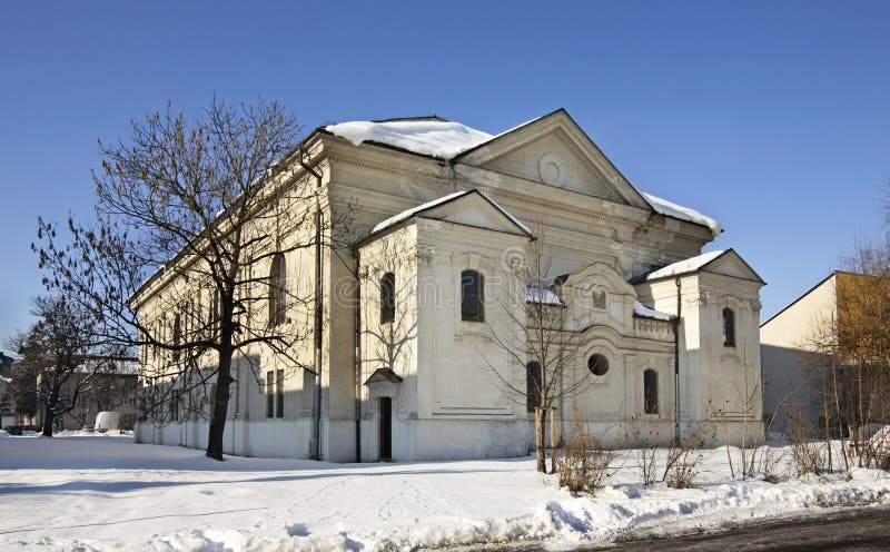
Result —
[[[729, 525], [705, 534], [650, 538], [630, 533], [623, 542], [582, 546], [575, 552], [871, 552], [890, 551], [890, 506], [811, 512]], [[453, 549], [486, 552], [544, 552], [541, 544]]]

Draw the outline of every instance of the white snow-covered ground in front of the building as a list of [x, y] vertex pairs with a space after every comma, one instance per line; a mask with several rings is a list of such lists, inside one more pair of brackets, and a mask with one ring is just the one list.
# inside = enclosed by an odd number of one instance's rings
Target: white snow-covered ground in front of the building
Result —
[[617, 465], [612, 486], [587, 497], [556, 489], [530, 457], [218, 463], [130, 436], [0, 433], [0, 550], [367, 552], [523, 539], [558, 550], [634, 529], [673, 533], [877, 503], [890, 491], [890, 477], [869, 470], [854, 470], [850, 481], [732, 479], [724, 448], [702, 451], [696, 486], [688, 490], [636, 483], [633, 452], [621, 453]]

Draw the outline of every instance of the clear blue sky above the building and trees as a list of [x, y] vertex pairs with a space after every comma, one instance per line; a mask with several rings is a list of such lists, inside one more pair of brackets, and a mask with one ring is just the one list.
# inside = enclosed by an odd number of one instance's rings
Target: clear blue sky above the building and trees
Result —
[[[564, 107], [637, 187], [718, 218], [765, 316], [883, 224], [890, 2], [0, 3], [0, 345], [36, 219], [90, 215], [96, 140], [212, 95], [498, 132]], [[2, 348], [0, 346], [0, 348]]]

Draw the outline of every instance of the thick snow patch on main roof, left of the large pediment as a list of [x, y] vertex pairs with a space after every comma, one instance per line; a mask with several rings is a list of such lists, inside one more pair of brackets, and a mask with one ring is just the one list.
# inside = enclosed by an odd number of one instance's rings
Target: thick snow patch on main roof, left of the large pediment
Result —
[[451, 159], [494, 138], [459, 122], [436, 119], [349, 121], [328, 125], [325, 130], [355, 146], [374, 141], [439, 159]]

